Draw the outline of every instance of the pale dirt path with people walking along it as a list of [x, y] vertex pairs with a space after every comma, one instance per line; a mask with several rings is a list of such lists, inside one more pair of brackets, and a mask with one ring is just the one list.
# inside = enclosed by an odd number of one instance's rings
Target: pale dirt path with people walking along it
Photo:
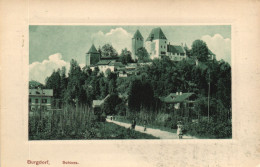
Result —
[[[129, 124], [129, 123], [118, 122], [118, 121], [114, 121], [114, 120], [110, 120], [110, 119], [106, 119], [106, 120], [107, 120], [107, 122], [112, 122], [114, 124], [123, 126], [125, 128], [129, 128], [131, 126], [131, 124]], [[146, 131], [144, 131], [143, 126], [136, 125], [135, 130], [142, 132], [142, 133], [153, 135], [155, 137], [159, 137], [160, 139], [178, 139], [178, 136], [177, 136], [176, 133], [162, 131], [162, 130], [159, 130], [159, 129], [147, 128]], [[183, 139], [195, 139], [195, 137], [184, 135]]]

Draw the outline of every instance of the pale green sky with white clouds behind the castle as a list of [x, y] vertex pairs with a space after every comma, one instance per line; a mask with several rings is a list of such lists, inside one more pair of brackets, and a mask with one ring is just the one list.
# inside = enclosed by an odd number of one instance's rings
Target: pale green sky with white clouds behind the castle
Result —
[[96, 48], [106, 43], [120, 54], [127, 48], [131, 51], [132, 37], [137, 29], [146, 40], [153, 28], [161, 27], [168, 43], [187, 44], [191, 48], [196, 39], [205, 41], [216, 54], [217, 60], [231, 64], [231, 26], [29, 26], [29, 79], [44, 83], [53, 70], [62, 66], [69, 69], [69, 62], [75, 59], [80, 66], [85, 64], [85, 55], [94, 44]]

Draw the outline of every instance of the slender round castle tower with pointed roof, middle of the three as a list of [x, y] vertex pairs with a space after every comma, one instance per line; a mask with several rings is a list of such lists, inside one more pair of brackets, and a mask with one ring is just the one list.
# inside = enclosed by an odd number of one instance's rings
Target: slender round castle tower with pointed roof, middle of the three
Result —
[[137, 50], [144, 46], [144, 38], [141, 35], [140, 31], [137, 30], [132, 38], [132, 59], [136, 60], [137, 57]]

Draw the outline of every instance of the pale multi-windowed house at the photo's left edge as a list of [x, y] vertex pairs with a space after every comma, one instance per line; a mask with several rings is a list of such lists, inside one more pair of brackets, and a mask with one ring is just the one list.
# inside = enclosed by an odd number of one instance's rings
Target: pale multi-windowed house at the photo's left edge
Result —
[[29, 111], [51, 109], [52, 98], [52, 89], [29, 89]]

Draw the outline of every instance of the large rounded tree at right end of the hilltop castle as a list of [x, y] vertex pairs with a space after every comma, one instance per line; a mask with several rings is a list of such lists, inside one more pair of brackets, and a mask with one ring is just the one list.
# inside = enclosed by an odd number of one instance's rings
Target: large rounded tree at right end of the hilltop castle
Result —
[[201, 62], [206, 62], [209, 55], [207, 44], [202, 40], [195, 40], [191, 46], [191, 55]]

